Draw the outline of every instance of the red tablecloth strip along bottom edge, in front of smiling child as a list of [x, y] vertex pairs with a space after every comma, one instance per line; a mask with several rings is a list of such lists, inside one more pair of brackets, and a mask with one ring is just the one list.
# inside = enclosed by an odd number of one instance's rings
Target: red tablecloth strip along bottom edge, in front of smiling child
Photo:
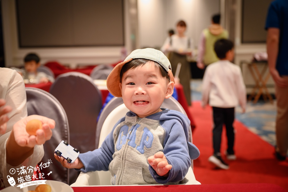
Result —
[[[275, 184], [268, 183], [238, 183], [238, 184], [204, 184], [204, 185], [154, 185], [154, 186], [99, 186], [99, 187], [72, 187], [74, 192], [147, 192], [147, 191], [251, 191], [251, 192], [285, 192], [286, 190]], [[287, 192], [287, 191], [286, 191]]]

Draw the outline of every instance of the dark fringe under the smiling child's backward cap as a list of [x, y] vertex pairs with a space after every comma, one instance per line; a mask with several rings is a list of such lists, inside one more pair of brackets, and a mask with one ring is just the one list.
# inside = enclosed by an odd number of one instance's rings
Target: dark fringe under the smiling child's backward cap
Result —
[[[135, 69], [139, 66], [143, 66], [144, 64], [146, 64], [147, 62], [150, 62], [150, 61], [151, 60], [148, 60], [148, 59], [132, 59], [128, 63], [124, 64], [122, 69], [121, 69], [121, 72], [120, 72], [120, 82], [122, 82], [123, 74], [126, 71], [128, 71], [129, 69]], [[154, 61], [151, 61], [151, 62], [154, 62]], [[169, 79], [167, 71], [160, 64], [158, 64], [156, 62], [154, 62], [154, 64], [155, 64], [155, 67], [160, 70], [162, 77], [166, 77], [168, 79], [168, 82], [169, 82], [170, 79]]]

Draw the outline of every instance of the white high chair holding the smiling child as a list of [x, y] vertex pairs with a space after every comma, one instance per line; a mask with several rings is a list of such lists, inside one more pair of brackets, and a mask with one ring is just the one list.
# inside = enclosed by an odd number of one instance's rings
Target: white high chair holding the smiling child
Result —
[[[176, 101], [174, 98], [171, 98], [171, 99], [173, 99], [173, 102]], [[101, 129], [100, 138], [99, 138], [99, 147], [101, 147], [106, 136], [112, 131], [113, 126], [117, 123], [117, 121], [119, 119], [121, 119], [122, 117], [124, 117], [124, 115], [128, 111], [129, 110], [126, 108], [126, 106], [123, 103], [123, 104], [120, 104], [118, 107], [116, 107], [107, 116], [107, 118], [105, 119], [105, 121], [103, 123], [102, 129]], [[200, 185], [201, 184], [200, 182], [198, 182], [196, 180], [194, 173], [193, 173], [192, 166], [193, 166], [193, 164], [191, 165], [191, 167], [189, 167], [189, 170], [188, 170], [185, 178], [180, 182], [180, 185]], [[101, 186], [111, 185], [110, 177], [111, 177], [111, 175], [110, 175], [109, 171], [93, 171], [93, 172], [87, 172], [87, 173], [81, 172], [79, 174], [76, 182], [70, 186], [71, 187], [87, 187], [87, 186], [94, 186], [95, 187], [95, 186], [99, 186], [99, 185], [101, 185]]]

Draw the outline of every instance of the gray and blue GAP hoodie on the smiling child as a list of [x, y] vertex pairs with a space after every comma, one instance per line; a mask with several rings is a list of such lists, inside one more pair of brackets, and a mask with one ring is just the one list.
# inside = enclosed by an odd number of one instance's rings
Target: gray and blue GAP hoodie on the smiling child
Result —
[[[81, 171], [109, 170], [112, 185], [177, 184], [183, 180], [199, 150], [188, 142], [190, 120], [178, 111], [162, 110], [144, 118], [128, 112], [101, 148], [79, 155], [84, 165]], [[158, 151], [163, 151], [172, 165], [168, 177], [159, 176], [147, 161]]]

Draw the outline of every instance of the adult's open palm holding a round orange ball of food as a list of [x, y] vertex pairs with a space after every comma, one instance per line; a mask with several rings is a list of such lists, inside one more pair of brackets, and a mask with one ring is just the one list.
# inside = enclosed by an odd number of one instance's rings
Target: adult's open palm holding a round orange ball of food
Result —
[[[39, 119], [42, 124], [42, 129], [38, 129], [35, 135], [29, 135], [26, 132], [26, 124], [32, 119]], [[21, 147], [34, 147], [35, 145], [44, 144], [52, 137], [52, 130], [55, 128], [55, 121], [40, 115], [30, 115], [18, 121], [13, 126], [13, 133], [16, 143]]]

